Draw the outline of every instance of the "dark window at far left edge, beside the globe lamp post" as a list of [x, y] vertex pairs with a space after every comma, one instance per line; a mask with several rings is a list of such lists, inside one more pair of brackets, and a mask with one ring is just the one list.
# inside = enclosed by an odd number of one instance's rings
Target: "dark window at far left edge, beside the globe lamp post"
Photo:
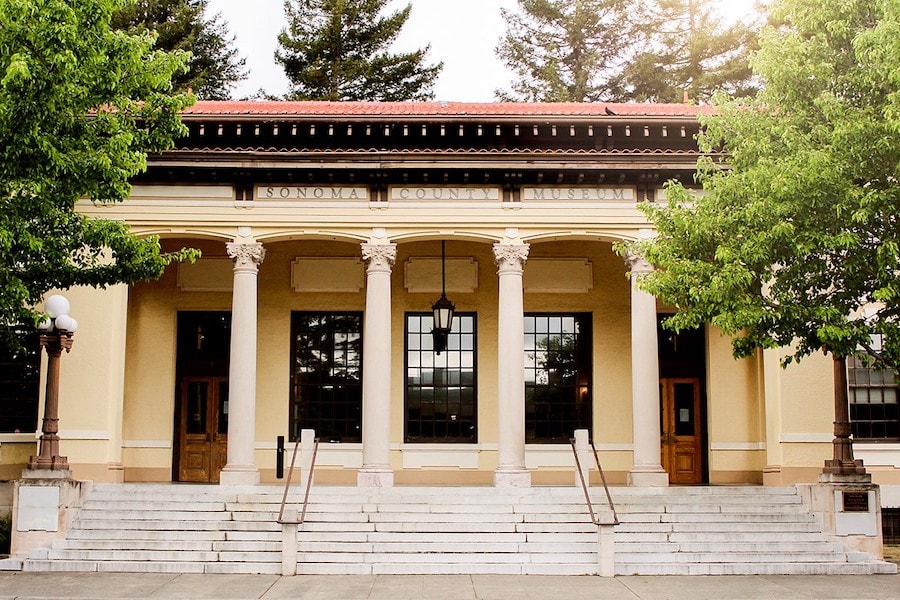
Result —
[[0, 433], [37, 431], [40, 386], [37, 331], [8, 327], [0, 335]]

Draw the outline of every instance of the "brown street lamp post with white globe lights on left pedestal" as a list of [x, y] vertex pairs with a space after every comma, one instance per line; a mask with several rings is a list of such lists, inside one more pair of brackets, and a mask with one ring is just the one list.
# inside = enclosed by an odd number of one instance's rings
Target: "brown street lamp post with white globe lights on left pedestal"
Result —
[[28, 461], [29, 469], [66, 471], [68, 460], [59, 455], [59, 360], [62, 351], [69, 352], [78, 322], [69, 316], [69, 301], [60, 295], [44, 303], [47, 317], [38, 324], [41, 348], [47, 351], [47, 387], [44, 398], [44, 420], [41, 425], [40, 450]]

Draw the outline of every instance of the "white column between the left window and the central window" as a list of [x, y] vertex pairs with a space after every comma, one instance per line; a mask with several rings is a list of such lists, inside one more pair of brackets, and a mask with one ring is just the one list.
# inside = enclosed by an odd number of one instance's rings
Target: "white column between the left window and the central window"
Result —
[[366, 261], [363, 317], [363, 464], [361, 487], [390, 487], [391, 433], [391, 267], [396, 244], [361, 244]]

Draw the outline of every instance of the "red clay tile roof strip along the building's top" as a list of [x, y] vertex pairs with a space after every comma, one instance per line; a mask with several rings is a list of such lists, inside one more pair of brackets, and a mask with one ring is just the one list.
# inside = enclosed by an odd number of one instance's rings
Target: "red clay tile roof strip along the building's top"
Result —
[[711, 106], [643, 103], [200, 101], [191, 116], [316, 117], [696, 117]]

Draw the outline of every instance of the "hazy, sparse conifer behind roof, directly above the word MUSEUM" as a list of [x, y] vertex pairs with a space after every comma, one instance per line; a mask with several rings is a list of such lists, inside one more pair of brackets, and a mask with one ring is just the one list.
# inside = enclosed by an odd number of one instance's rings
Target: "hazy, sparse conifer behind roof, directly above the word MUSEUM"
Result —
[[506, 35], [497, 56], [515, 73], [513, 102], [593, 102], [608, 96], [608, 81], [627, 48], [628, 9], [634, 0], [518, 0], [502, 9]]

